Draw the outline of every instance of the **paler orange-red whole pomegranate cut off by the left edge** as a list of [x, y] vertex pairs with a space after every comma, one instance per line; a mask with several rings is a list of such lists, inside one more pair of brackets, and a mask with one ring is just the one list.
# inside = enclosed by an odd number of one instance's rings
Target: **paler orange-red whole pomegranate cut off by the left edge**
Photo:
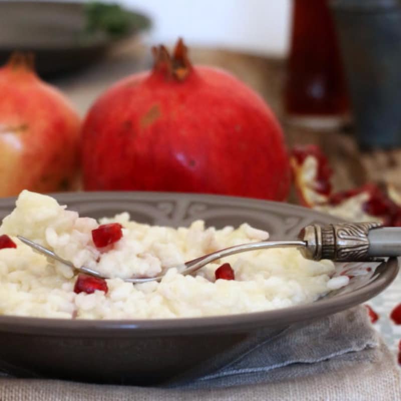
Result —
[[42, 82], [31, 58], [0, 68], [0, 196], [68, 189], [78, 164], [80, 118]]

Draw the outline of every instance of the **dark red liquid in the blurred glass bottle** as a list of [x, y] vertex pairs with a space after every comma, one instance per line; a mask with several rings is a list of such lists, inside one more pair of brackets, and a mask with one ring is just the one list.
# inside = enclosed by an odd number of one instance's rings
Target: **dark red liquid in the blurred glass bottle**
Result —
[[309, 118], [341, 118], [348, 110], [328, 0], [294, 0], [285, 109]]

